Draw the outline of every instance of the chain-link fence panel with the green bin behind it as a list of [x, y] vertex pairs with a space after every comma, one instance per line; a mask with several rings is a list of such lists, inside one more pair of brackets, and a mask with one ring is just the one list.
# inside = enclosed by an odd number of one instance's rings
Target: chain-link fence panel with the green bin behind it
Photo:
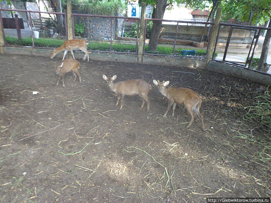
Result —
[[[151, 42], [152, 26], [156, 23], [158, 44]], [[203, 21], [176, 21], [146, 19], [144, 54], [173, 57], [205, 58], [208, 42], [199, 42], [208, 39], [213, 23]], [[204, 27], [206, 25], [206, 27]], [[160, 33], [159, 33], [160, 32]], [[203, 33], [203, 35], [202, 35]], [[207, 40], [206, 40], [207, 41]]]

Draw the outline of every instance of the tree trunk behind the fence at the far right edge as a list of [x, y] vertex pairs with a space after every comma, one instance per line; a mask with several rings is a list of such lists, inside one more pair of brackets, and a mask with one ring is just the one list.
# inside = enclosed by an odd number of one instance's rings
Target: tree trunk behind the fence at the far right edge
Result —
[[[271, 19], [269, 20], [268, 27], [271, 28]], [[268, 54], [270, 38], [271, 38], [271, 30], [266, 30], [266, 35], [263, 41], [262, 53], [261, 53], [261, 57], [257, 66], [257, 70], [262, 71], [262, 72], [267, 72], [268, 70], [266, 59], [267, 59], [267, 54]]]

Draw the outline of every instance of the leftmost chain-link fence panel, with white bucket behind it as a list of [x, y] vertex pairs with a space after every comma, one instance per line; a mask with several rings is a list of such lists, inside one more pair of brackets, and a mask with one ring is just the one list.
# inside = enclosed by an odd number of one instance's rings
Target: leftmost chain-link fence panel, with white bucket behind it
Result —
[[[21, 18], [16, 14], [15, 18], [1, 17], [4, 41], [7, 46], [56, 48], [67, 39], [67, 19], [64, 13], [25, 10], [5, 11], [24, 13]], [[17, 21], [20, 22], [19, 26], [16, 25]]]

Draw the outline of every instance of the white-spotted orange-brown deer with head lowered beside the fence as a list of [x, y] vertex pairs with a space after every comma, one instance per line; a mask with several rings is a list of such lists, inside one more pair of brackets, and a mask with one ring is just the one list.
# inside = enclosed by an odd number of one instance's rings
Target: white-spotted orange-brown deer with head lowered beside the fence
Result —
[[[64, 50], [64, 56], [62, 58], [62, 61], [63, 61], [68, 51], [70, 51], [70, 53], [73, 55], [73, 50], [81, 50], [85, 52], [83, 61], [86, 60], [86, 57], [88, 57], [88, 62], [89, 62], [89, 52], [86, 50], [88, 44], [89, 42], [84, 39], [67, 40], [59, 48], [54, 48], [54, 50], [51, 51], [50, 58], [53, 59], [56, 54]], [[73, 59], [75, 59], [74, 55], [73, 55]]]

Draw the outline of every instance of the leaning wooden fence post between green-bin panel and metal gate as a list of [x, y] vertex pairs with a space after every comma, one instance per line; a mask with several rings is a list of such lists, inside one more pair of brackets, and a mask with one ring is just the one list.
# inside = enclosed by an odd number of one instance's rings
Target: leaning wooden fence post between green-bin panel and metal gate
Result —
[[217, 10], [216, 10], [216, 18], [215, 18], [215, 22], [214, 22], [214, 25], [213, 25], [212, 36], [210, 38], [209, 49], [207, 51], [207, 56], [206, 56], [207, 60], [206, 60], [205, 68], [208, 66], [208, 63], [210, 62], [212, 54], [213, 54], [213, 49], [214, 49], [214, 45], [215, 45], [216, 37], [217, 37], [217, 33], [218, 33], [221, 10], [222, 10], [221, 7], [218, 7]]

